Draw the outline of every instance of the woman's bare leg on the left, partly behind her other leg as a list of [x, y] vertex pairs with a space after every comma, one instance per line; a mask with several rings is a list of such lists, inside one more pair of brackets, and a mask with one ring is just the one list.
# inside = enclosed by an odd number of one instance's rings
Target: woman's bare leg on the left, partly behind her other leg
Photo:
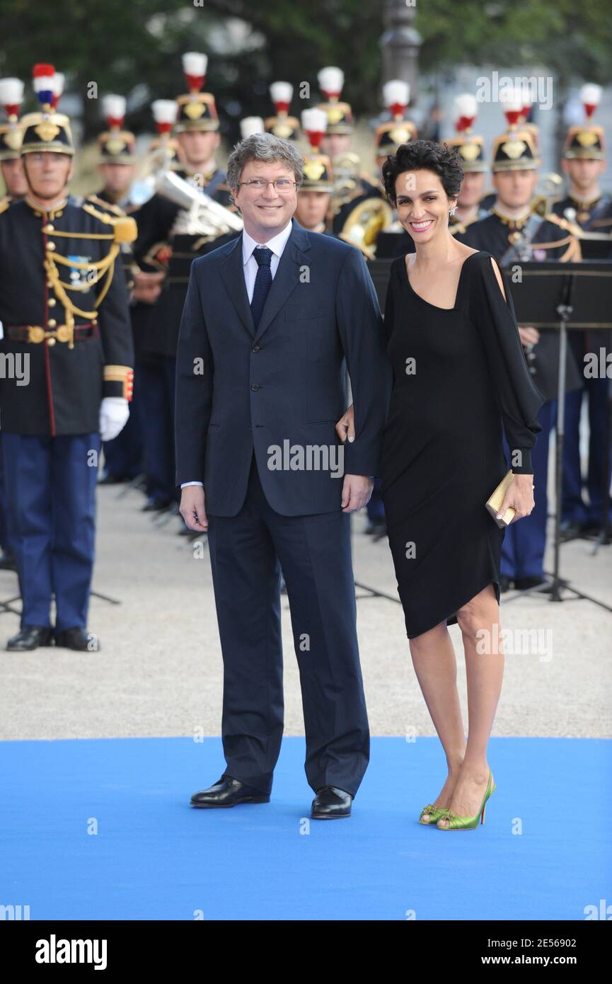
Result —
[[447, 780], [432, 801], [434, 806], [443, 809], [451, 804], [465, 752], [455, 649], [446, 621], [409, 643], [414, 672], [447, 757]]

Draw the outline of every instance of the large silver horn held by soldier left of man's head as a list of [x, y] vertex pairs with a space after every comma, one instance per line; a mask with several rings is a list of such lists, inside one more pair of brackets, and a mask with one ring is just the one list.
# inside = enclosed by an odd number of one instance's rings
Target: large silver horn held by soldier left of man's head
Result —
[[243, 221], [240, 215], [225, 209], [210, 195], [195, 188], [174, 171], [158, 171], [154, 190], [181, 209], [172, 229], [174, 233], [216, 237], [242, 230]]

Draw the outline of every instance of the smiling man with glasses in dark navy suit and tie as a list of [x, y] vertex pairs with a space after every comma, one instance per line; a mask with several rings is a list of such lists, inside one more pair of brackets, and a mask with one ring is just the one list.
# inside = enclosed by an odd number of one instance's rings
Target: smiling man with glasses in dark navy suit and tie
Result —
[[[226, 770], [192, 804], [270, 800], [283, 728], [280, 566], [313, 818], [346, 817], [369, 760], [350, 513], [372, 492], [391, 392], [372, 280], [352, 246], [292, 215], [302, 156], [255, 134], [227, 182], [243, 233], [194, 261], [176, 371], [181, 514], [208, 531]], [[343, 446], [346, 368], [356, 437]]]

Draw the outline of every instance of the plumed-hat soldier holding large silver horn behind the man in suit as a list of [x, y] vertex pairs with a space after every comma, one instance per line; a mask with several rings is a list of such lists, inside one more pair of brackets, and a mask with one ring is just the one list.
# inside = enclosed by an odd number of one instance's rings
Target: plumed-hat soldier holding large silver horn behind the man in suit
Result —
[[[200, 52], [183, 56], [183, 70], [189, 92], [177, 99], [174, 128], [183, 167], [172, 170], [179, 179], [170, 184], [168, 171], [157, 175], [157, 188], [138, 215], [138, 241], [134, 251], [138, 267], [153, 272], [152, 256], [167, 261], [167, 276], [154, 303], [147, 342], [147, 353], [158, 360], [156, 374], [148, 380], [148, 428], [155, 435], [153, 453], [157, 488], [150, 494], [145, 510], [160, 511], [177, 502], [174, 480], [174, 379], [176, 345], [189, 271], [192, 262], [238, 235], [241, 220], [231, 202], [225, 174], [214, 161], [219, 145], [219, 121], [211, 92], [201, 92], [208, 59]], [[199, 193], [222, 206], [206, 223], [191, 220], [190, 205]], [[171, 198], [169, 197], [171, 196]], [[228, 232], [232, 227], [236, 228]], [[158, 268], [157, 268], [158, 269]], [[137, 276], [137, 284], [139, 277]], [[156, 376], [156, 379], [153, 379]], [[154, 389], [153, 389], [154, 387]]]

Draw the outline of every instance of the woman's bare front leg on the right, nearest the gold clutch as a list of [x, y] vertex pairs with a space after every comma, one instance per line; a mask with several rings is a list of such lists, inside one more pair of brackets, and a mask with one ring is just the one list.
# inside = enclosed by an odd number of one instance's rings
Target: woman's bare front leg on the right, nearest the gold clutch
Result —
[[465, 652], [468, 728], [450, 807], [459, 817], [473, 817], [489, 779], [487, 746], [504, 676], [499, 605], [493, 585], [488, 584], [460, 608], [457, 618]]

